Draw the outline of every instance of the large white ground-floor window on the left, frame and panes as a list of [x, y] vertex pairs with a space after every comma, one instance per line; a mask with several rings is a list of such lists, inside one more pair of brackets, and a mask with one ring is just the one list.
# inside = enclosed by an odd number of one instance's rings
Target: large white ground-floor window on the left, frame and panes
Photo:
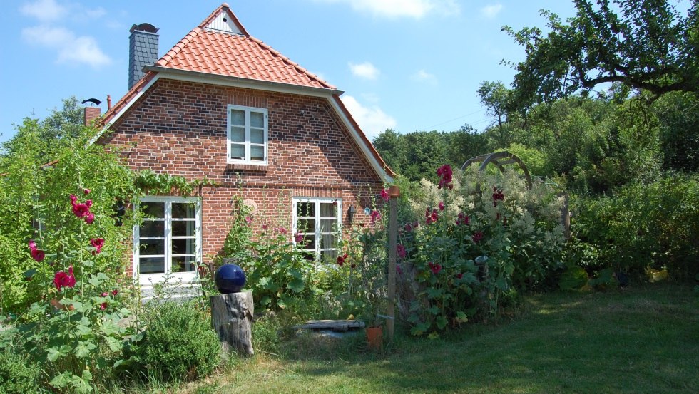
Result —
[[133, 229], [133, 264], [141, 283], [196, 277], [201, 252], [201, 201], [194, 197], [143, 197], [143, 223]]

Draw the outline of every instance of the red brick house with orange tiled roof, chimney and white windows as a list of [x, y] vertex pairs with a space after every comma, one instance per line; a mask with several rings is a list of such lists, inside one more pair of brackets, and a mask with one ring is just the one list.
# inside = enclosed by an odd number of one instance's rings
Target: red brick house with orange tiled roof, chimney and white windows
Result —
[[[364, 214], [394, 173], [340, 100], [342, 91], [250, 36], [222, 4], [158, 59], [158, 29], [131, 28], [129, 90], [100, 120], [97, 142], [135, 170], [215, 182], [196, 195], [148, 196], [133, 234], [142, 286], [220, 254], [235, 195], [262, 224], [302, 232], [317, 259]], [[300, 226], [301, 220], [305, 225]]]

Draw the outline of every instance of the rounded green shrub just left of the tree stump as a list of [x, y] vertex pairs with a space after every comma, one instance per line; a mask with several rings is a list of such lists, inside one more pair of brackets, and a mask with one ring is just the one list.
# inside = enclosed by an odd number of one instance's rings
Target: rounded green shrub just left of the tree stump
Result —
[[[143, 339], [131, 349], [145, 378], [164, 381], [203, 378], [220, 364], [221, 345], [206, 316], [172, 301], [148, 306]], [[141, 372], [143, 373], [143, 372]]]

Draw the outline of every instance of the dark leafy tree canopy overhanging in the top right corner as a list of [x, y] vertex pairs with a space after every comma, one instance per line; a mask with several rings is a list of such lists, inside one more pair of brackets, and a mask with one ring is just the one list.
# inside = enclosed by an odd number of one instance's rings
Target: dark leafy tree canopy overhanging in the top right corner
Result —
[[699, 92], [699, 9], [686, 14], [668, 0], [573, 0], [577, 13], [565, 22], [542, 10], [549, 32], [506, 31], [526, 59], [511, 63], [518, 109], [550, 102], [601, 83], [668, 92]]

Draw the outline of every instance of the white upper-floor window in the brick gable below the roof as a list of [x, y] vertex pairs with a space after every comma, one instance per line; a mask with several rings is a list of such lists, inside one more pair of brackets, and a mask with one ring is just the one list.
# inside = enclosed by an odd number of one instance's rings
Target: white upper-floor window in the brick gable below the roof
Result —
[[267, 110], [228, 105], [228, 162], [267, 164]]

